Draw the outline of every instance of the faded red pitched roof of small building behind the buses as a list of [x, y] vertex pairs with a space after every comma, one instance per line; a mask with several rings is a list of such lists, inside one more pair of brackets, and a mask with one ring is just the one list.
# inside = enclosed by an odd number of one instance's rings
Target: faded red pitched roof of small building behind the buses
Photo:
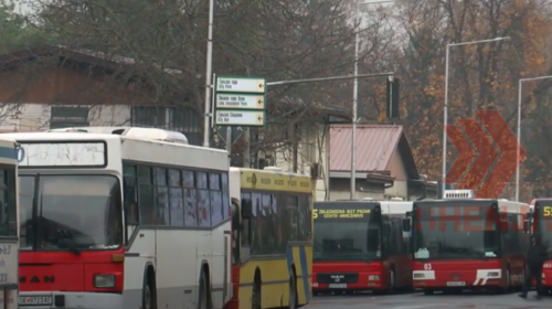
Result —
[[[357, 126], [357, 171], [388, 171], [395, 151], [401, 151], [408, 177], [417, 179], [417, 169], [410, 149], [403, 126], [400, 125], [358, 125]], [[330, 127], [330, 171], [351, 170], [351, 126]]]

